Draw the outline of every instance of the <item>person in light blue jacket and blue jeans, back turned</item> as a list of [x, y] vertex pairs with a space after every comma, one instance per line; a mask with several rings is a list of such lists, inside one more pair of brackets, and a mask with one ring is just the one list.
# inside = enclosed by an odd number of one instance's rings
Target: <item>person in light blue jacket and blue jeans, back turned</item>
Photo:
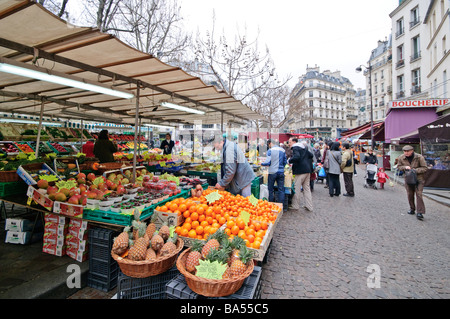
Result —
[[[282, 144], [281, 144], [282, 145]], [[284, 203], [284, 166], [287, 164], [285, 150], [274, 145], [272, 140], [268, 140], [267, 158], [261, 163], [262, 166], [269, 166], [269, 176], [267, 188], [269, 190], [269, 202], [274, 202], [274, 185], [277, 182], [278, 202]]]

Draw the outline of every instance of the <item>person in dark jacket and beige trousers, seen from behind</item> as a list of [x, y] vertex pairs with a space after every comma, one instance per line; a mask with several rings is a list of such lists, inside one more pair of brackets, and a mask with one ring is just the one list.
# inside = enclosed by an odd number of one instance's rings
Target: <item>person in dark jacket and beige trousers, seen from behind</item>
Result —
[[[292, 157], [289, 163], [292, 164], [292, 173], [295, 175], [295, 194], [292, 198], [292, 208], [300, 209], [300, 197], [303, 194], [305, 201], [305, 209], [312, 211], [312, 195], [310, 188], [311, 172], [312, 172], [312, 158], [313, 154], [308, 151], [304, 143], [298, 143], [298, 139], [291, 137], [289, 139], [289, 146], [292, 149]], [[301, 189], [303, 188], [303, 192]]]

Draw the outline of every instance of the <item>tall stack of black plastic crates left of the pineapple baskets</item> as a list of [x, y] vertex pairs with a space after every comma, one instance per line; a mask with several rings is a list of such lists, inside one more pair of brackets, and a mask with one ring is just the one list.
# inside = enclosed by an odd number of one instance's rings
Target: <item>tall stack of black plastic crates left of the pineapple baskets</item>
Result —
[[88, 287], [102, 291], [110, 291], [117, 286], [119, 265], [111, 256], [114, 237], [119, 232], [91, 227], [88, 233], [89, 242], [89, 272]]

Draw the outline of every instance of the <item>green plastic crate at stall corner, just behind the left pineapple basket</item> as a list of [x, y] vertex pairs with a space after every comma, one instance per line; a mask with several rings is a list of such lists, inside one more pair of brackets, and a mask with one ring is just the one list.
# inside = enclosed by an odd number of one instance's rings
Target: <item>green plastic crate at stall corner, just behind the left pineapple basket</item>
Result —
[[[145, 220], [147, 218], [150, 218], [153, 215], [155, 207], [156, 207], [155, 205], [151, 205], [145, 208], [142, 211], [139, 220]], [[83, 219], [121, 226], [131, 226], [134, 220], [134, 215], [125, 215], [113, 211], [84, 209]]]

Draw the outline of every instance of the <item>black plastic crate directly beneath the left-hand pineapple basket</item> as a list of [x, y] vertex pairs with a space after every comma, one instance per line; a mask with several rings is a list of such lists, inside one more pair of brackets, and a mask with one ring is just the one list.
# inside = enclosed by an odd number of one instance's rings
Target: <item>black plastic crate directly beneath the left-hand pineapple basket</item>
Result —
[[147, 278], [132, 278], [120, 272], [117, 299], [166, 299], [166, 284], [179, 274], [176, 266]]

